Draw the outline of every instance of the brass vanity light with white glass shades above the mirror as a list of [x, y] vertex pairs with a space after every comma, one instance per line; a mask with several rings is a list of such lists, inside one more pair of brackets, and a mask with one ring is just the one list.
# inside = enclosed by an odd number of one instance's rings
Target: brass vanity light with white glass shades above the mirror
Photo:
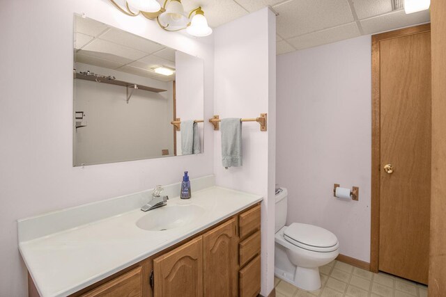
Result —
[[187, 33], [196, 37], [212, 34], [212, 29], [208, 26], [208, 20], [204, 16], [201, 6], [191, 10], [187, 15], [181, 0], [165, 0], [162, 7], [156, 0], [127, 0], [125, 8], [114, 0], [109, 1], [125, 15], [136, 17], [141, 13], [148, 19], [156, 19], [158, 25], [166, 31], [186, 29]]

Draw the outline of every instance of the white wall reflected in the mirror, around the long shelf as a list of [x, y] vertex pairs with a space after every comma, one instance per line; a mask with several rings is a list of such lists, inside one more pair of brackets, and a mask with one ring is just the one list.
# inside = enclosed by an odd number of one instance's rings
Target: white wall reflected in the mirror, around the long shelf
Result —
[[160, 158], [162, 150], [174, 155], [171, 81], [82, 63], [76, 63], [75, 67], [77, 72], [90, 70], [120, 81], [166, 90], [160, 93], [133, 90], [127, 103], [127, 90], [123, 86], [75, 79], [74, 109], [84, 111], [86, 123], [86, 127], [75, 129], [75, 166]]

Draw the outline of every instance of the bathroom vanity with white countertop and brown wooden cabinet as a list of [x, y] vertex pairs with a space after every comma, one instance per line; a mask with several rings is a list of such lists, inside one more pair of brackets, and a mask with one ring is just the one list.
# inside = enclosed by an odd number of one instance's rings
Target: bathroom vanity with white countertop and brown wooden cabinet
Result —
[[[141, 207], [144, 195], [127, 196], [126, 202]], [[123, 199], [97, 204], [112, 209]], [[88, 217], [99, 206], [20, 220], [20, 252], [32, 277], [29, 295], [257, 296], [261, 200], [211, 186], [190, 200], [171, 198], [166, 207], [146, 213], [133, 209], [89, 218], [46, 235], [56, 220], [76, 220], [73, 214], [82, 212]]]

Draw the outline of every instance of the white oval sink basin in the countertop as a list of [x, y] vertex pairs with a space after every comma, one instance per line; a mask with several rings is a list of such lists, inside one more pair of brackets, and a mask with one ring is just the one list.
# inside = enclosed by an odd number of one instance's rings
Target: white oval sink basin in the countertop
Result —
[[148, 211], [137, 220], [137, 226], [148, 231], [171, 230], [193, 223], [203, 214], [203, 207], [198, 205], [167, 205]]

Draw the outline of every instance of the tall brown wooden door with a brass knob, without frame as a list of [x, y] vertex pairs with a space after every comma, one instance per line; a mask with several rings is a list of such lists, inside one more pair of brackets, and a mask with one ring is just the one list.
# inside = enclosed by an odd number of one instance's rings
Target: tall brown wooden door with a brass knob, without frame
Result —
[[390, 38], [379, 40], [379, 270], [426, 284], [431, 197], [431, 34], [425, 30], [385, 34]]

